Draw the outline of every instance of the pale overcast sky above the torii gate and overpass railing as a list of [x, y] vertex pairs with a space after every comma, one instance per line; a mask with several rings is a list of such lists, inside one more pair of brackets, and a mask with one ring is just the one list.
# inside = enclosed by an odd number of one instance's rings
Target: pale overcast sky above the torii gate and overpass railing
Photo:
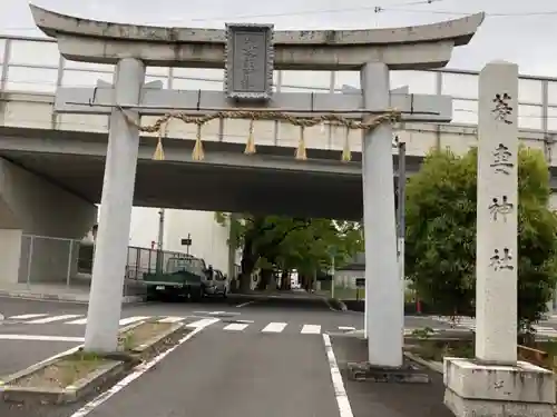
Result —
[[[521, 73], [557, 77], [557, 1], [530, 0], [33, 0], [38, 6], [97, 20], [164, 26], [223, 27], [226, 21], [272, 22], [276, 29], [374, 28], [431, 23], [462, 13], [488, 17], [449, 68], [479, 70], [486, 62], [517, 62]], [[374, 12], [380, 7], [382, 11]], [[554, 11], [545, 16], [528, 13]], [[297, 13], [297, 14], [296, 14]], [[41, 36], [26, 0], [0, 0], [0, 33]]]

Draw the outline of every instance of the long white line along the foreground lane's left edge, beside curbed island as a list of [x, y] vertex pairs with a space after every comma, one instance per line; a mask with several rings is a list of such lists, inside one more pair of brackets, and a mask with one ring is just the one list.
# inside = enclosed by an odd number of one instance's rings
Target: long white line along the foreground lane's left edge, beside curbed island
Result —
[[160, 360], [163, 360], [167, 355], [172, 354], [174, 350], [176, 350], [178, 347], [180, 347], [187, 340], [189, 340], [195, 335], [197, 335], [199, 331], [202, 331], [205, 327], [211, 326], [217, 321], [218, 321], [217, 318], [208, 319], [208, 321], [206, 321], [206, 326], [198, 327], [195, 330], [193, 330], [192, 332], [187, 334], [176, 345], [174, 345], [168, 350], [162, 353], [160, 355], [156, 356], [147, 364], [138, 365], [137, 367], [135, 367], [135, 370], [131, 374], [129, 374], [126, 378], [121, 379], [119, 383], [114, 385], [109, 390], [107, 390], [102, 394], [99, 394], [96, 398], [94, 398], [92, 400], [87, 403], [84, 407], [78, 409], [70, 417], [85, 417], [89, 413], [92, 413], [98, 406], [100, 406], [102, 403], [107, 401], [110, 397], [113, 397], [114, 395], [118, 394], [120, 390], [126, 388], [129, 384], [131, 384], [134, 380], [139, 378], [141, 375], [144, 375], [146, 371], [148, 371], [150, 368], [153, 368], [155, 365], [157, 365]]

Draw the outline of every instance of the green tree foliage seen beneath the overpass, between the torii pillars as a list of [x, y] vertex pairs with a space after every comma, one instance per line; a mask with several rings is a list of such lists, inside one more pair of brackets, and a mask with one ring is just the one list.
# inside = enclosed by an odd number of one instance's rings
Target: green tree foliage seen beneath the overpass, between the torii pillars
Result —
[[255, 268], [312, 274], [328, 269], [332, 257], [342, 266], [363, 247], [360, 225], [352, 221], [229, 214], [215, 219], [231, 227], [228, 244], [242, 248], [243, 289]]

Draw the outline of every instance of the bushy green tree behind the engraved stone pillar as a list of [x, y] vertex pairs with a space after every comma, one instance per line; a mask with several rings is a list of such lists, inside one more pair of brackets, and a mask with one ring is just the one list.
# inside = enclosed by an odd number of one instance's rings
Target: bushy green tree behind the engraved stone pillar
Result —
[[[556, 285], [557, 216], [544, 155], [521, 147], [518, 159], [518, 318], [529, 329]], [[476, 187], [477, 149], [432, 151], [408, 181], [407, 275], [440, 314], [475, 314]]]

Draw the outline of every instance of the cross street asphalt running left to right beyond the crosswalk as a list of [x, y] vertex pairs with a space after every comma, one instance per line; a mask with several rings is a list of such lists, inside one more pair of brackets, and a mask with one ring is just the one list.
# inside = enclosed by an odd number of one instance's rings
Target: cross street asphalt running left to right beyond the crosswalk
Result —
[[[6, 316], [0, 331], [45, 336], [82, 337], [87, 306], [82, 304], [0, 298], [0, 312]], [[42, 315], [42, 316], [41, 316]], [[250, 328], [263, 328], [270, 322], [286, 322], [290, 327], [321, 326], [323, 331], [363, 328], [361, 312], [332, 311], [317, 297], [231, 297], [204, 302], [147, 302], [125, 305], [121, 318], [134, 317], [219, 317], [223, 320], [253, 321]], [[125, 322], [125, 321], [123, 321]], [[255, 325], [255, 326], [254, 326]], [[429, 317], [407, 317], [407, 328], [449, 328], [450, 325]]]

